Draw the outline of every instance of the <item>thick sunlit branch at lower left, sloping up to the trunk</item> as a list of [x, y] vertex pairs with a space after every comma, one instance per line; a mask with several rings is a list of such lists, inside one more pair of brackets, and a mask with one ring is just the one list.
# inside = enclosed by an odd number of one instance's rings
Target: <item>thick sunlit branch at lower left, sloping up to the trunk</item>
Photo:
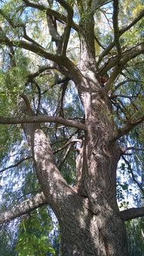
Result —
[[0, 213], [0, 224], [6, 223], [10, 220], [14, 220], [17, 217], [20, 217], [24, 214], [27, 214], [42, 205], [46, 205], [47, 200], [43, 193], [38, 193], [35, 196], [22, 202], [19, 205], [15, 205], [12, 209], [6, 212]]

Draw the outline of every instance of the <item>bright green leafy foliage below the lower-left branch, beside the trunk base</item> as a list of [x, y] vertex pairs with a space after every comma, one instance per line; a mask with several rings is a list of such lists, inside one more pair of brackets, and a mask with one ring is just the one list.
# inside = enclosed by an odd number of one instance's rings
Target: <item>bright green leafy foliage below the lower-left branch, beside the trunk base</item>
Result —
[[16, 252], [19, 256], [56, 255], [48, 237], [52, 221], [46, 208], [31, 212], [19, 225]]

